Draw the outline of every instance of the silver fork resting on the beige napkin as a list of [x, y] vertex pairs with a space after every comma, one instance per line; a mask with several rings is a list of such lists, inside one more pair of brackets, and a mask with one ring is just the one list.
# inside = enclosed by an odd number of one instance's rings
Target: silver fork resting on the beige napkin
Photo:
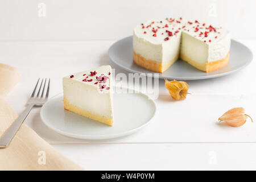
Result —
[[[19, 127], [22, 125], [24, 120], [27, 118], [28, 113], [30, 113], [32, 107], [34, 106], [43, 106], [43, 104], [47, 101], [48, 96], [49, 96], [49, 84], [50, 84], [50, 79], [48, 79], [48, 86], [46, 86], [47, 78], [44, 80], [42, 79], [40, 87], [38, 89], [38, 94], [35, 96], [36, 88], [38, 87], [40, 78], [38, 78], [38, 82], [36, 82], [35, 89], [30, 97], [30, 99], [27, 101], [27, 107], [26, 109], [22, 112], [22, 114], [19, 115], [19, 117], [13, 122], [13, 124], [5, 131], [5, 133], [2, 135], [0, 138], [0, 148], [6, 148], [9, 143], [11, 142], [11, 139], [13, 139], [14, 135], [16, 132], [19, 130]], [[43, 84], [44, 82], [44, 84]], [[43, 85], [43, 90], [40, 96], [40, 90]], [[47, 92], [46, 96], [44, 97], [44, 89], [47, 87]]]

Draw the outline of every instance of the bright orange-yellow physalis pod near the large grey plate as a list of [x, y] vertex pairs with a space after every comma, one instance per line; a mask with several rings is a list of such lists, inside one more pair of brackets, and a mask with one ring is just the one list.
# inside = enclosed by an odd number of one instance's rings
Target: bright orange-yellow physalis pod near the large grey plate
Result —
[[168, 81], [165, 80], [164, 86], [169, 90], [170, 95], [174, 100], [184, 100], [189, 94], [188, 91], [188, 84], [185, 81]]

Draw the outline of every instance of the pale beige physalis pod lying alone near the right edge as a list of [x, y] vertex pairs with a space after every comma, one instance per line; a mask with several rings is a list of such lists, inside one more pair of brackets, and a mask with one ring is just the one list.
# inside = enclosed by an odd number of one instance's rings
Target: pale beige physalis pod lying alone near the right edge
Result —
[[[251, 119], [249, 115], [245, 114], [243, 107], [236, 107], [226, 111], [226, 113], [218, 118], [218, 121], [225, 121], [229, 126], [238, 127], [246, 122], [247, 117]], [[251, 119], [251, 122], [253, 122], [253, 119]]]

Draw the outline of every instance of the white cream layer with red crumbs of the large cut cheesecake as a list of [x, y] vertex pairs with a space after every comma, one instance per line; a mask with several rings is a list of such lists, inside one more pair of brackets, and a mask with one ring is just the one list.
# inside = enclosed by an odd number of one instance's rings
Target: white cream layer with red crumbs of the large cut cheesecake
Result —
[[[204, 50], [207, 52], [204, 53], [207, 55], [200, 57], [200, 62], [220, 60], [229, 52], [229, 31], [199, 20], [182, 18], [149, 20], [135, 27], [134, 51], [141, 54], [145, 59], [163, 63], [171, 61], [179, 52], [180, 36], [182, 37], [184, 34], [199, 40], [193, 42], [194, 44], [190, 43], [189, 46], [197, 46], [195, 43], [199, 43], [205, 47]], [[187, 41], [186, 39], [181, 39], [181, 46], [183, 40]], [[202, 60], [203, 57], [205, 58], [204, 60]]]

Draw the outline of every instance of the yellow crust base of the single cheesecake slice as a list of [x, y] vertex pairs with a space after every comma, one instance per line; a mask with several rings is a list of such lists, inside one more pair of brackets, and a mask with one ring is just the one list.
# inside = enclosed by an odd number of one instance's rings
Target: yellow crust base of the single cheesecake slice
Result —
[[77, 107], [75, 105], [70, 104], [65, 99], [65, 97], [63, 98], [63, 102], [64, 102], [64, 109], [65, 110], [72, 111], [73, 113], [77, 113], [77, 114], [83, 115], [83, 116], [88, 117], [90, 119], [94, 119], [96, 121], [105, 123], [105, 124], [107, 124], [109, 126], [112, 126], [112, 124], [113, 124], [113, 118], [102, 117], [102, 115], [93, 114], [93, 113], [90, 113], [89, 111], [83, 110], [83, 109], [81, 109], [81, 108], [79, 108], [79, 107]]

